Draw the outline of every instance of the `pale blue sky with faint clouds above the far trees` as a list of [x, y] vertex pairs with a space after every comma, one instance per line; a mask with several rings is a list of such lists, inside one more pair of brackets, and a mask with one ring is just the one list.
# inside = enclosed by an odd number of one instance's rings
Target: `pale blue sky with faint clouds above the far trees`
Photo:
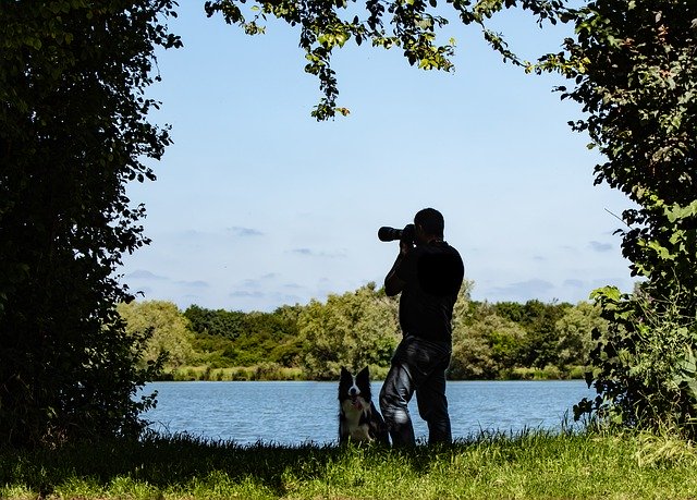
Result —
[[[182, 2], [184, 3], [184, 2]], [[579, 107], [563, 83], [503, 64], [453, 23], [455, 72], [411, 68], [401, 51], [346, 46], [334, 58], [347, 118], [317, 123], [315, 77], [297, 33], [270, 22], [248, 37], [203, 2], [170, 28], [184, 48], [159, 56], [152, 120], [174, 144], [156, 182], [129, 187], [152, 243], [124, 258], [122, 280], [145, 300], [234, 310], [323, 301], [376, 281], [398, 252], [380, 225], [424, 207], [445, 217], [476, 300], [578, 302], [594, 288], [631, 291], [620, 236], [628, 200], [594, 186]], [[509, 13], [494, 26], [534, 59], [564, 28]]]

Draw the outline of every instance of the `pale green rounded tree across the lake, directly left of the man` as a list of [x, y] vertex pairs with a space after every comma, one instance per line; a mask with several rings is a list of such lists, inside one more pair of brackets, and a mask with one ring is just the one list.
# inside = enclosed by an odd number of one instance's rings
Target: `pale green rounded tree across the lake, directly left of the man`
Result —
[[401, 337], [396, 316], [396, 301], [375, 283], [329, 295], [326, 304], [310, 302], [298, 317], [308, 377], [334, 379], [341, 366], [389, 366]]

